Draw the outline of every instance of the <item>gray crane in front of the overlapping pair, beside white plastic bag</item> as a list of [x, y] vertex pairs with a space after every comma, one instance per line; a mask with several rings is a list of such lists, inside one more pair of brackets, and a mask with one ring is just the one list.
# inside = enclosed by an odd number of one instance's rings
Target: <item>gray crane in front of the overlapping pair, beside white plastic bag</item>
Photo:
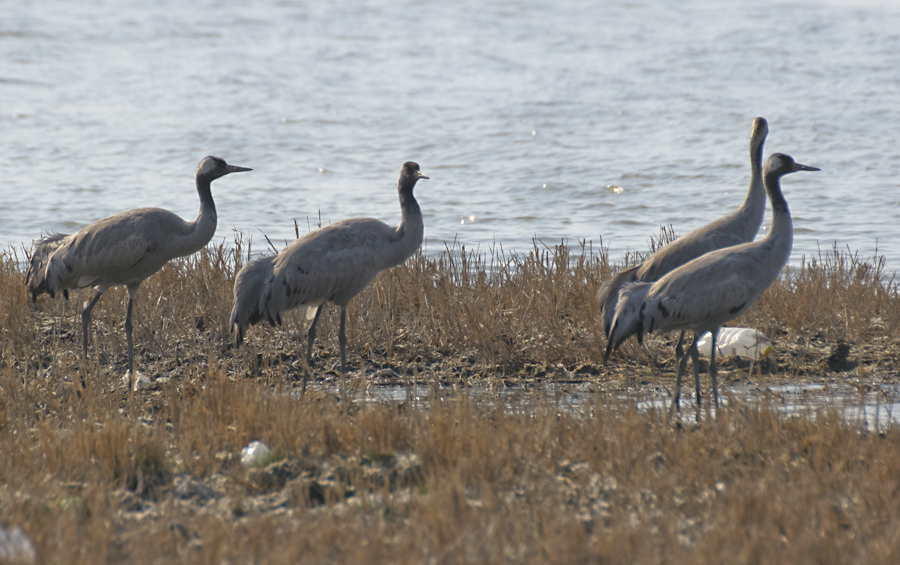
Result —
[[687, 355], [679, 353], [684, 331], [694, 332], [688, 353], [694, 362], [697, 386], [697, 417], [700, 417], [700, 368], [697, 339], [712, 335], [709, 374], [713, 398], [719, 405], [716, 381], [716, 336], [725, 322], [740, 316], [778, 278], [791, 254], [793, 224], [787, 202], [781, 193], [782, 176], [796, 171], [818, 171], [794, 162], [789, 155], [775, 153], [763, 169], [763, 182], [772, 202], [772, 224], [768, 233], [751, 243], [711, 251], [670, 271], [656, 282], [627, 283], [619, 294], [606, 358], [628, 337], [644, 333], [681, 331], [676, 346], [677, 378], [674, 406], [679, 406], [681, 375]]

